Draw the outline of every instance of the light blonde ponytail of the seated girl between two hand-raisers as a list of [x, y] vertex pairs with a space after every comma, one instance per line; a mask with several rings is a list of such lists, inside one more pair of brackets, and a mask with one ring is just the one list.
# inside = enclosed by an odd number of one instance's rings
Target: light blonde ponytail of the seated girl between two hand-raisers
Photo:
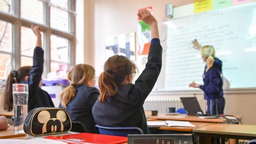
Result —
[[67, 108], [67, 104], [70, 102], [70, 100], [75, 97], [75, 86], [70, 85], [66, 87], [60, 94], [60, 101], [61, 101], [61, 106], [63, 108]]

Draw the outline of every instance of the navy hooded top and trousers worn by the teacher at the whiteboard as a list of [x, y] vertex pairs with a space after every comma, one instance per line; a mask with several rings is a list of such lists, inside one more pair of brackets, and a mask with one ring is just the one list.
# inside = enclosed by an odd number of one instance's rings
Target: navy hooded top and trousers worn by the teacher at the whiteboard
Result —
[[223, 114], [225, 99], [223, 98], [221, 67], [222, 61], [215, 58], [213, 66], [203, 75], [204, 85], [201, 85], [200, 89], [204, 91], [204, 99], [207, 100], [207, 114]]

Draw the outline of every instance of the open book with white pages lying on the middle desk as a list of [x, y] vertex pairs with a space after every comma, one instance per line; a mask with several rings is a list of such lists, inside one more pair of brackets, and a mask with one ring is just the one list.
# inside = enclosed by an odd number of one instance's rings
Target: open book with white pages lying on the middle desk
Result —
[[156, 126], [187, 126], [187, 127], [196, 127], [191, 124], [189, 121], [177, 121], [177, 120], [166, 120], [166, 121], [147, 121], [148, 127]]

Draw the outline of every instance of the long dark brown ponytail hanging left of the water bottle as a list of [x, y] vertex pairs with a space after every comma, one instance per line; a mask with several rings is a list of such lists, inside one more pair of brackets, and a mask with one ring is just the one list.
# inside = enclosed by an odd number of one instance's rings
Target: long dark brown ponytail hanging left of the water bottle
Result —
[[4, 90], [3, 108], [7, 111], [13, 109], [13, 96], [12, 96], [12, 84], [16, 83], [13, 73], [10, 73], [6, 80], [6, 87]]

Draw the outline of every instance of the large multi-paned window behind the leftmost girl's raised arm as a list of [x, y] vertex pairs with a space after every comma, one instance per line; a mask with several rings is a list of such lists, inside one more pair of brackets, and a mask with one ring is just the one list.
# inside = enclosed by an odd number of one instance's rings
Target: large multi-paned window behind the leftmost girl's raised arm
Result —
[[[33, 65], [36, 36], [31, 24], [42, 29], [43, 77], [75, 64], [75, 56], [69, 54], [75, 49], [75, 3], [76, 0], [0, 0], [0, 80], [6, 79], [10, 70]], [[12, 15], [6, 17], [6, 13]]]

